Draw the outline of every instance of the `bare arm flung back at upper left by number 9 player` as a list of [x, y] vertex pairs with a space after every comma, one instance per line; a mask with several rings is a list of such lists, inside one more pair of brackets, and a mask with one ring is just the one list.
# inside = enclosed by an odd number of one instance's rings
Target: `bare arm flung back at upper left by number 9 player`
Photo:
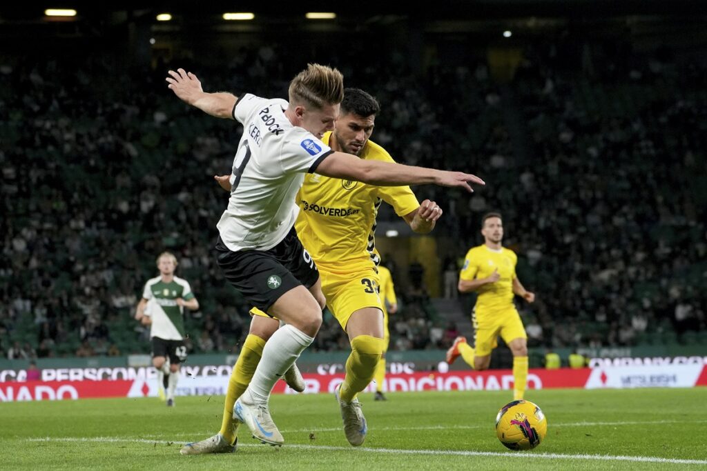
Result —
[[201, 89], [199, 78], [183, 68], [177, 71], [168, 71], [169, 77], [165, 81], [169, 83], [167, 87], [172, 90], [180, 100], [201, 109], [206, 114], [217, 118], [233, 119], [233, 107], [238, 97], [232, 93], [218, 92], [206, 93]]

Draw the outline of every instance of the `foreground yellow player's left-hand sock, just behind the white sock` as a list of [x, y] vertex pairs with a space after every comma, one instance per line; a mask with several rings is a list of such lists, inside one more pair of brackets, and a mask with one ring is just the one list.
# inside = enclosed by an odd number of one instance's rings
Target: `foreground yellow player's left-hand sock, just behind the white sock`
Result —
[[219, 432], [228, 443], [233, 444], [238, 434], [238, 422], [234, 423], [233, 421], [233, 405], [248, 387], [263, 354], [264, 347], [265, 340], [257, 335], [248, 335], [245, 338], [243, 347], [240, 349], [238, 361], [233, 366], [233, 373], [230, 374], [230, 379], [228, 380], [226, 403], [223, 405], [223, 422]]

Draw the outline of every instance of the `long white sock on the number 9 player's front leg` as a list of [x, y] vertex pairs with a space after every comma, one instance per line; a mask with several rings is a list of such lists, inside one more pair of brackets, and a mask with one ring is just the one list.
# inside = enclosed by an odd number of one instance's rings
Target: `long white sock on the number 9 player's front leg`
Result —
[[314, 338], [293, 326], [279, 328], [267, 341], [262, 357], [250, 381], [250, 394], [259, 402], [267, 402], [270, 391], [280, 376], [312, 345]]

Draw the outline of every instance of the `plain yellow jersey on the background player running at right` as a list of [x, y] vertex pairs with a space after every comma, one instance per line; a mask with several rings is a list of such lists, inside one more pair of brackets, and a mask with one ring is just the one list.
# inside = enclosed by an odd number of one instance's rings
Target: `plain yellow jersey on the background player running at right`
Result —
[[486, 278], [493, 270], [498, 270], [498, 281], [479, 287], [477, 304], [474, 306], [477, 315], [489, 310], [499, 311], [515, 309], [513, 306], [513, 278], [515, 278], [515, 264], [518, 256], [510, 249], [501, 247], [501, 250], [491, 249], [489, 246], [480, 245], [467, 252], [464, 267], [460, 273], [462, 280], [476, 280]]

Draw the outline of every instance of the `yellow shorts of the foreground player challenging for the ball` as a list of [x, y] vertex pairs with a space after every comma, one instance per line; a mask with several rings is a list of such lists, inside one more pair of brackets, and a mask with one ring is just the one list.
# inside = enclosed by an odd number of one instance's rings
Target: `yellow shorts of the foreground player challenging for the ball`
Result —
[[[322, 292], [327, 299], [329, 311], [332, 311], [344, 330], [351, 314], [358, 309], [366, 307], [381, 309], [378, 295], [379, 278], [373, 267], [350, 273], [331, 272], [320, 268], [320, 277]], [[250, 314], [270, 317], [255, 307], [250, 310]]]

